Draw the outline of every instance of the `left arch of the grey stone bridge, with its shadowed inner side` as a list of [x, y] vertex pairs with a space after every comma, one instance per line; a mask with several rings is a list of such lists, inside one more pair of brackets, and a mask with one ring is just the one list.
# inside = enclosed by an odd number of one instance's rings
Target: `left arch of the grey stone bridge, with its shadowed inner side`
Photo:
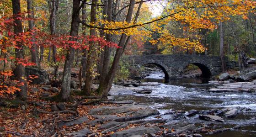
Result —
[[140, 62], [139, 67], [142, 67], [145, 64], [154, 64], [157, 67], [161, 68], [165, 74], [165, 80], [169, 80], [168, 67], [163, 62], [161, 62], [160, 60], [148, 59]]

